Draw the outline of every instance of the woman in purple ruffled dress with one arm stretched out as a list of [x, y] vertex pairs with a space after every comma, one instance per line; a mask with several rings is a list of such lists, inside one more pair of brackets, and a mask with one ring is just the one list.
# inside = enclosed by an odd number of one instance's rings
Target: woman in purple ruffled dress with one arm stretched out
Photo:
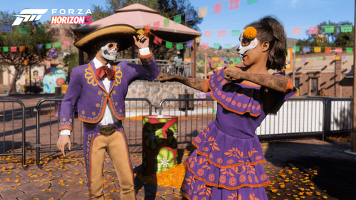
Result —
[[218, 102], [216, 120], [195, 137], [197, 149], [185, 161], [181, 192], [187, 199], [268, 199], [264, 187], [271, 181], [261, 166], [266, 159], [255, 130], [296, 91], [290, 78], [268, 73], [286, 65], [286, 33], [266, 16], [249, 24], [240, 41], [241, 68], [229, 66], [205, 81], [167, 74], [157, 78], [210, 91]]

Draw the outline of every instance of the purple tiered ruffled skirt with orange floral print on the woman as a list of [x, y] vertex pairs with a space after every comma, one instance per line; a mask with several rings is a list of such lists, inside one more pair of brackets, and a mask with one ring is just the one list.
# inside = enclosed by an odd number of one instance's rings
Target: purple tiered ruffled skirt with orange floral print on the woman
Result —
[[268, 200], [264, 187], [271, 181], [261, 166], [266, 159], [258, 137], [236, 134], [226, 135], [214, 121], [195, 137], [197, 149], [184, 161], [188, 171], [181, 193], [187, 199]]

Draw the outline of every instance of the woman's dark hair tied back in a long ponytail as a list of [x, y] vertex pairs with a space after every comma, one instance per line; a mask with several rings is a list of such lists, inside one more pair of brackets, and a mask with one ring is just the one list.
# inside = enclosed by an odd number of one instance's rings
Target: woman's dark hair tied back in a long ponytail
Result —
[[265, 16], [248, 24], [248, 26], [256, 28], [258, 41], [270, 43], [266, 68], [282, 70], [286, 66], [287, 38], [281, 22], [274, 16]]

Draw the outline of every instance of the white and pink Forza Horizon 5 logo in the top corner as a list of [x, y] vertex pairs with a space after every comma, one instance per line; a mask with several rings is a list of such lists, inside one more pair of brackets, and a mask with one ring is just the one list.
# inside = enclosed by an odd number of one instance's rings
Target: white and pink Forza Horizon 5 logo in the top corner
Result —
[[[46, 14], [48, 9], [24, 9], [16, 16], [12, 26], [20, 25], [23, 21], [38, 21], [43, 14]], [[57, 14], [58, 9], [52, 9], [52, 14]], [[75, 14], [74, 9], [68, 9], [68, 14]], [[92, 16], [85, 16], [86, 14], [92, 14], [90, 9], [83, 13], [83, 9], [77, 9], [76, 14], [82, 16], [65, 16], [67, 11], [65, 9], [59, 10], [60, 16], [51, 16], [51, 24], [85, 24], [89, 25], [92, 22]]]

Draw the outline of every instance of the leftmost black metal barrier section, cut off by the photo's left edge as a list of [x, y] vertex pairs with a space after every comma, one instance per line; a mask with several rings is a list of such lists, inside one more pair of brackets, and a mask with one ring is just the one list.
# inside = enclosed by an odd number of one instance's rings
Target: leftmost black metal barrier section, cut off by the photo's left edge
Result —
[[[7, 99], [7, 100], [0, 100], [0, 102], [3, 102], [2, 106], [2, 116], [3, 117], [3, 148], [0, 148], [0, 156], [7, 156], [7, 155], [21, 155], [22, 156], [22, 166], [24, 167], [26, 164], [26, 107], [21, 102], [21, 100], [17, 99]], [[20, 105], [20, 108], [14, 107], [14, 102], [18, 103]], [[9, 106], [5, 107], [6, 103], [11, 103], [11, 109], [9, 109]], [[30, 110], [30, 115], [31, 115], [31, 110]], [[17, 123], [17, 122], [21, 122]], [[16, 123], [16, 132], [15, 132], [15, 123]], [[10, 124], [10, 125], [9, 125]], [[9, 125], [9, 126], [6, 126]], [[6, 131], [6, 127], [11, 127], [11, 130]], [[21, 128], [20, 128], [21, 127]], [[22, 133], [21, 137], [21, 152], [14, 152], [14, 149], [16, 148], [16, 142], [15, 142], [15, 137], [16, 133], [20, 132]], [[1, 135], [0, 135], [1, 136]], [[7, 140], [6, 140], [7, 139]], [[10, 140], [9, 140], [10, 139]], [[9, 141], [11, 142], [11, 151], [9, 149], [6, 149], [9, 145]], [[2, 153], [1, 153], [2, 150]]]

